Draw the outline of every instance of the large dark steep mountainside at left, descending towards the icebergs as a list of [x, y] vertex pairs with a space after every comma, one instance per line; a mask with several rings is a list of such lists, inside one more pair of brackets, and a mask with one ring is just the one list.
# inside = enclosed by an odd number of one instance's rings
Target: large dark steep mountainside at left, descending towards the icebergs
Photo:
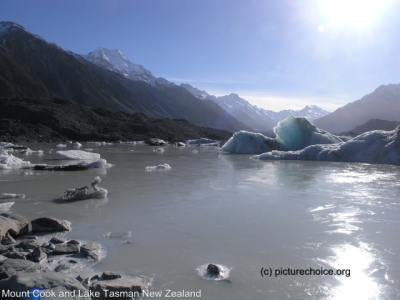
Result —
[[[248, 128], [215, 103], [202, 101], [181, 87], [151, 86], [126, 77], [136, 70], [151, 80], [152, 74], [143, 67], [127, 65], [127, 75], [100, 68], [18, 24], [0, 22], [0, 45], [0, 66], [5, 70], [0, 75], [0, 98], [64, 98], [81, 105], [142, 112], [153, 118], [187, 119], [229, 131]], [[122, 60], [119, 66], [122, 68]]]

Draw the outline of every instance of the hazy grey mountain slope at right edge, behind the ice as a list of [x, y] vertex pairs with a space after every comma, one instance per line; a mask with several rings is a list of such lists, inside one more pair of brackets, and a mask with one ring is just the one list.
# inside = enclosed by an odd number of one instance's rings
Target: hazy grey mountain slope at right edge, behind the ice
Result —
[[400, 84], [381, 85], [372, 93], [314, 121], [332, 133], [352, 130], [371, 119], [400, 122]]

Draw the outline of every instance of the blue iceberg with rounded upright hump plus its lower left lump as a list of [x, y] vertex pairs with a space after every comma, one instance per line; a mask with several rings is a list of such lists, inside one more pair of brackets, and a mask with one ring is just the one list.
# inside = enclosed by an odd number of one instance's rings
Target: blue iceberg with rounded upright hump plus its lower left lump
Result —
[[318, 129], [306, 118], [290, 116], [274, 128], [276, 138], [269, 138], [260, 133], [237, 132], [225, 145], [222, 152], [260, 154], [272, 150], [300, 150], [315, 144], [340, 143], [342, 139]]

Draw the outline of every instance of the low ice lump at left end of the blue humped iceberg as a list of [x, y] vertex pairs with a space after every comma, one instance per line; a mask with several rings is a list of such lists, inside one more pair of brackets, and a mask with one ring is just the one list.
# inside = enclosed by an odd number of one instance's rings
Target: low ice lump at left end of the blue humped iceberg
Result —
[[[250, 153], [258, 154], [271, 151], [268, 145], [276, 144], [274, 139], [266, 137], [261, 133], [239, 131], [221, 147], [222, 152], [226, 153]], [[276, 148], [276, 146], [275, 146]]]

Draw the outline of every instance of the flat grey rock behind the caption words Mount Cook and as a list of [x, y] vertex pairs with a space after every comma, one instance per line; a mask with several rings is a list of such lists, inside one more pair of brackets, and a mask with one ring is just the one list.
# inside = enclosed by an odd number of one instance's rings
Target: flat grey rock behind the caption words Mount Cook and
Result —
[[[21, 273], [16, 276], [12, 276], [5, 282], [3, 286], [3, 289], [5, 290], [16, 292], [28, 291], [33, 288], [41, 289], [43, 291], [54, 291], [56, 297], [46, 297], [46, 299], [91, 299], [88, 295], [88, 290], [81, 283], [79, 283], [78, 280], [62, 273]], [[67, 292], [71, 294], [72, 291], [75, 291], [75, 297], [58, 297], [61, 293], [68, 295]], [[78, 294], [81, 296], [79, 297]]]

